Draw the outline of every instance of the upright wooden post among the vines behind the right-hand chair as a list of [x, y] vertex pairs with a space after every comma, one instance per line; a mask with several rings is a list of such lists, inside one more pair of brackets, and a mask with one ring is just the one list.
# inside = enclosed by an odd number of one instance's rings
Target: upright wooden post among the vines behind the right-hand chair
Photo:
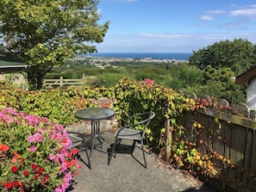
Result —
[[[164, 110], [164, 116], [165, 113], [168, 111], [168, 106], [165, 106]], [[164, 160], [167, 162], [169, 158], [171, 157], [171, 145], [170, 143], [172, 142], [172, 133], [171, 133], [171, 127], [170, 127], [170, 119], [165, 117], [165, 143], [164, 143]]]

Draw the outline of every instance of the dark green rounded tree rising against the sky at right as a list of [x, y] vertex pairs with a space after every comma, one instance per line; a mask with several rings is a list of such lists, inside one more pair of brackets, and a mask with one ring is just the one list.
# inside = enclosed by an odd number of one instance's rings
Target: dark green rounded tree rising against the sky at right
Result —
[[201, 70], [208, 65], [213, 68], [230, 67], [238, 76], [256, 64], [256, 46], [248, 40], [221, 40], [193, 51], [189, 61], [190, 65], [196, 65]]

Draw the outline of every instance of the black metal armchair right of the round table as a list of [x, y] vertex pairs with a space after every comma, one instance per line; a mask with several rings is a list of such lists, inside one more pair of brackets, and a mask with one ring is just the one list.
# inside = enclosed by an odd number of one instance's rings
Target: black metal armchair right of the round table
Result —
[[109, 149], [108, 165], [110, 164], [112, 156], [116, 158], [116, 153], [119, 151], [119, 148], [121, 146], [121, 140], [130, 139], [134, 141], [133, 145], [130, 146], [130, 149], [131, 149], [130, 153], [132, 155], [134, 152], [134, 147], [136, 142], [140, 142], [141, 151], [144, 158], [144, 167], [147, 168], [147, 161], [145, 157], [143, 139], [146, 139], [147, 148], [149, 150], [148, 153], [150, 153], [150, 146], [147, 138], [147, 127], [149, 122], [153, 119], [154, 116], [155, 114], [153, 112], [145, 112], [145, 113], [133, 115], [128, 118], [128, 120], [126, 121], [123, 127], [120, 127], [117, 129], [115, 133], [115, 138], [116, 138], [115, 143], [112, 144], [111, 148]]

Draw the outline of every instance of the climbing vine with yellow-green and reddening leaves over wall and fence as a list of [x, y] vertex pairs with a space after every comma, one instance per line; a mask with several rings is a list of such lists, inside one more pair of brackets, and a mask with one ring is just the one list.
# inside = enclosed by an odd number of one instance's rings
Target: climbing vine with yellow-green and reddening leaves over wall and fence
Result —
[[[205, 72], [207, 77], [212, 73], [218, 73], [211, 67]], [[231, 72], [226, 69], [225, 74]], [[227, 78], [224, 79], [228, 81]], [[208, 81], [209, 81], [208, 80]], [[77, 121], [74, 113], [80, 108], [97, 107], [97, 98], [108, 97], [113, 102], [113, 109], [116, 111], [116, 118], [122, 124], [131, 115], [153, 111], [155, 118], [149, 124], [148, 136], [153, 147], [153, 152], [161, 152], [165, 145], [171, 146], [172, 157], [170, 163], [178, 169], [187, 170], [192, 174], [215, 177], [221, 173], [219, 167], [215, 167], [215, 161], [218, 161], [221, 168], [230, 165], [230, 160], [223, 158], [213, 152], [200, 153], [200, 145], [206, 145], [202, 138], [203, 125], [197, 122], [193, 115], [203, 110], [205, 106], [212, 108], [214, 102], [206, 105], [205, 101], [194, 101], [179, 95], [176, 91], [165, 86], [155, 84], [150, 81], [134, 81], [128, 78], [122, 78], [117, 84], [109, 87], [71, 87], [66, 90], [37, 90], [37, 91], [17, 91], [10, 88], [9, 85], [1, 84], [0, 106], [16, 106], [20, 111], [28, 114], [41, 115], [54, 120], [64, 126]], [[13, 91], [9, 91], [13, 90]], [[8, 99], [11, 96], [12, 99]], [[187, 133], [187, 127], [183, 126], [184, 117], [191, 113], [193, 125], [193, 141], [190, 141], [190, 134]], [[169, 130], [165, 130], [165, 120], [171, 121], [167, 125]], [[194, 123], [193, 123], [194, 122]], [[215, 121], [212, 126], [219, 126]], [[215, 125], [216, 124], [216, 125]], [[212, 134], [207, 134], [211, 136]], [[165, 138], [170, 139], [170, 143], [165, 143]], [[200, 145], [199, 145], [200, 144]], [[206, 147], [207, 146], [203, 146]], [[161, 157], [161, 153], [159, 154]]]

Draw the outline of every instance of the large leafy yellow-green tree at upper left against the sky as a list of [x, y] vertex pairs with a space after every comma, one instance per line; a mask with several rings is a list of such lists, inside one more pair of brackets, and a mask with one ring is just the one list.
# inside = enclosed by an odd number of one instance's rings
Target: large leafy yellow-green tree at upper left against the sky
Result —
[[0, 36], [6, 50], [29, 65], [37, 88], [54, 66], [77, 54], [97, 52], [109, 22], [97, 22], [97, 0], [1, 0]]

